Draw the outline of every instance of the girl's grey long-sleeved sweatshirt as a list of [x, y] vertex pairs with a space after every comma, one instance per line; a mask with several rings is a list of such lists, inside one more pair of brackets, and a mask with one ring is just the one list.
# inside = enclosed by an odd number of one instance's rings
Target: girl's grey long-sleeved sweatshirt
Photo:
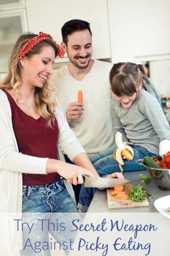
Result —
[[132, 142], [153, 154], [159, 153], [159, 142], [170, 140], [170, 127], [158, 100], [140, 90], [130, 108], [124, 109], [113, 97], [114, 133], [122, 134], [123, 142]]

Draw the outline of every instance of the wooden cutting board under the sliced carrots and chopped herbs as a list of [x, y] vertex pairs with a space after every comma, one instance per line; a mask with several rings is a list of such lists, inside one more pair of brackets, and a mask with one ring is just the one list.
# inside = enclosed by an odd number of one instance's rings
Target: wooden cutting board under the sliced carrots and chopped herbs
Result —
[[[131, 185], [130, 183], [125, 184], [123, 186], [123, 191], [126, 191], [128, 193], [133, 186], [134, 185]], [[107, 188], [108, 209], [135, 208], [135, 207], [149, 206], [149, 201], [147, 198], [145, 200], [143, 200], [143, 202], [141, 202], [141, 203], [133, 202], [132, 200], [127, 200], [127, 199], [116, 199], [110, 195], [110, 192], [112, 192], [113, 190], [114, 190], [114, 188]]]

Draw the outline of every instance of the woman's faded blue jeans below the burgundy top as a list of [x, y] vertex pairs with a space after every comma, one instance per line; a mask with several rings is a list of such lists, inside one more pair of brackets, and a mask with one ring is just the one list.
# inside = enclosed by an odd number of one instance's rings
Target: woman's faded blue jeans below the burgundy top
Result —
[[[50, 256], [50, 243], [52, 241], [50, 239], [49, 242], [49, 232], [57, 241], [57, 245], [60, 244], [68, 255], [71, 250], [70, 239], [73, 242], [76, 235], [76, 232], [70, 232], [68, 220], [70, 218], [81, 219], [81, 216], [79, 216], [77, 207], [63, 182], [24, 187], [22, 222], [29, 223], [29, 227], [33, 223], [34, 225], [31, 231], [27, 224], [23, 225], [21, 255], [32, 256], [38, 253], [39, 256]], [[54, 247], [53, 245], [53, 249]]]

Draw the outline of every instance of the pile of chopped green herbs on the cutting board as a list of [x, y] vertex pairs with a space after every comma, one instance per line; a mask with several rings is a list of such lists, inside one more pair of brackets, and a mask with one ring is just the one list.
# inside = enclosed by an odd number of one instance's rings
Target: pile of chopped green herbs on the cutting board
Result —
[[134, 202], [143, 202], [143, 200], [147, 198], [147, 193], [144, 187], [141, 184], [134, 185], [133, 188], [128, 193], [128, 200], [132, 200]]

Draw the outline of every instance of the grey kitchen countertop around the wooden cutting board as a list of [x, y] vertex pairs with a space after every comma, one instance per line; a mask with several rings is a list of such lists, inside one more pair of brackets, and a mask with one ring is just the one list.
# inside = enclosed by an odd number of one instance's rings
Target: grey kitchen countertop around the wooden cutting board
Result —
[[154, 201], [157, 198], [168, 196], [170, 192], [160, 190], [153, 180], [151, 180], [151, 182], [146, 185], [143, 181], [140, 180], [140, 173], [143, 173], [149, 177], [147, 170], [124, 172], [123, 176], [125, 179], [130, 180], [132, 185], [141, 184], [143, 187], [145, 187], [146, 192], [148, 194], [151, 194], [152, 199], [149, 199], [148, 207], [108, 209], [107, 190], [97, 189], [88, 209], [88, 212], [158, 212], [154, 207]]

